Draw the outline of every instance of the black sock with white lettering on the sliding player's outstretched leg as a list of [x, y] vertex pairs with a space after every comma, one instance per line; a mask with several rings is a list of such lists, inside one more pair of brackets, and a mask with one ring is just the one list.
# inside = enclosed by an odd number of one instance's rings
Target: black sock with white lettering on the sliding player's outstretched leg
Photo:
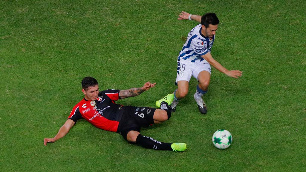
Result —
[[147, 149], [172, 150], [171, 143], [163, 143], [152, 137], [143, 136], [141, 134], [137, 136], [136, 143]]

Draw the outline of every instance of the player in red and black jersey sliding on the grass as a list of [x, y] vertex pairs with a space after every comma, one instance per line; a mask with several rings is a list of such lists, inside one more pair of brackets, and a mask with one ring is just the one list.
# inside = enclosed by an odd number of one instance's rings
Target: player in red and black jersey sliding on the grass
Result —
[[154, 123], [161, 123], [171, 117], [168, 102], [161, 102], [161, 109], [150, 107], [133, 107], [116, 104], [118, 99], [125, 99], [140, 95], [142, 92], [155, 87], [147, 82], [141, 88], [128, 90], [105, 90], [99, 92], [97, 80], [85, 77], [82, 80], [84, 99], [77, 103], [65, 124], [53, 138], [45, 138], [44, 145], [64, 137], [76, 124], [77, 120], [85, 119], [97, 128], [120, 133], [125, 140], [140, 144], [144, 148], [156, 150], [185, 151], [185, 143], [164, 143], [140, 134], [140, 127], [148, 127]]

